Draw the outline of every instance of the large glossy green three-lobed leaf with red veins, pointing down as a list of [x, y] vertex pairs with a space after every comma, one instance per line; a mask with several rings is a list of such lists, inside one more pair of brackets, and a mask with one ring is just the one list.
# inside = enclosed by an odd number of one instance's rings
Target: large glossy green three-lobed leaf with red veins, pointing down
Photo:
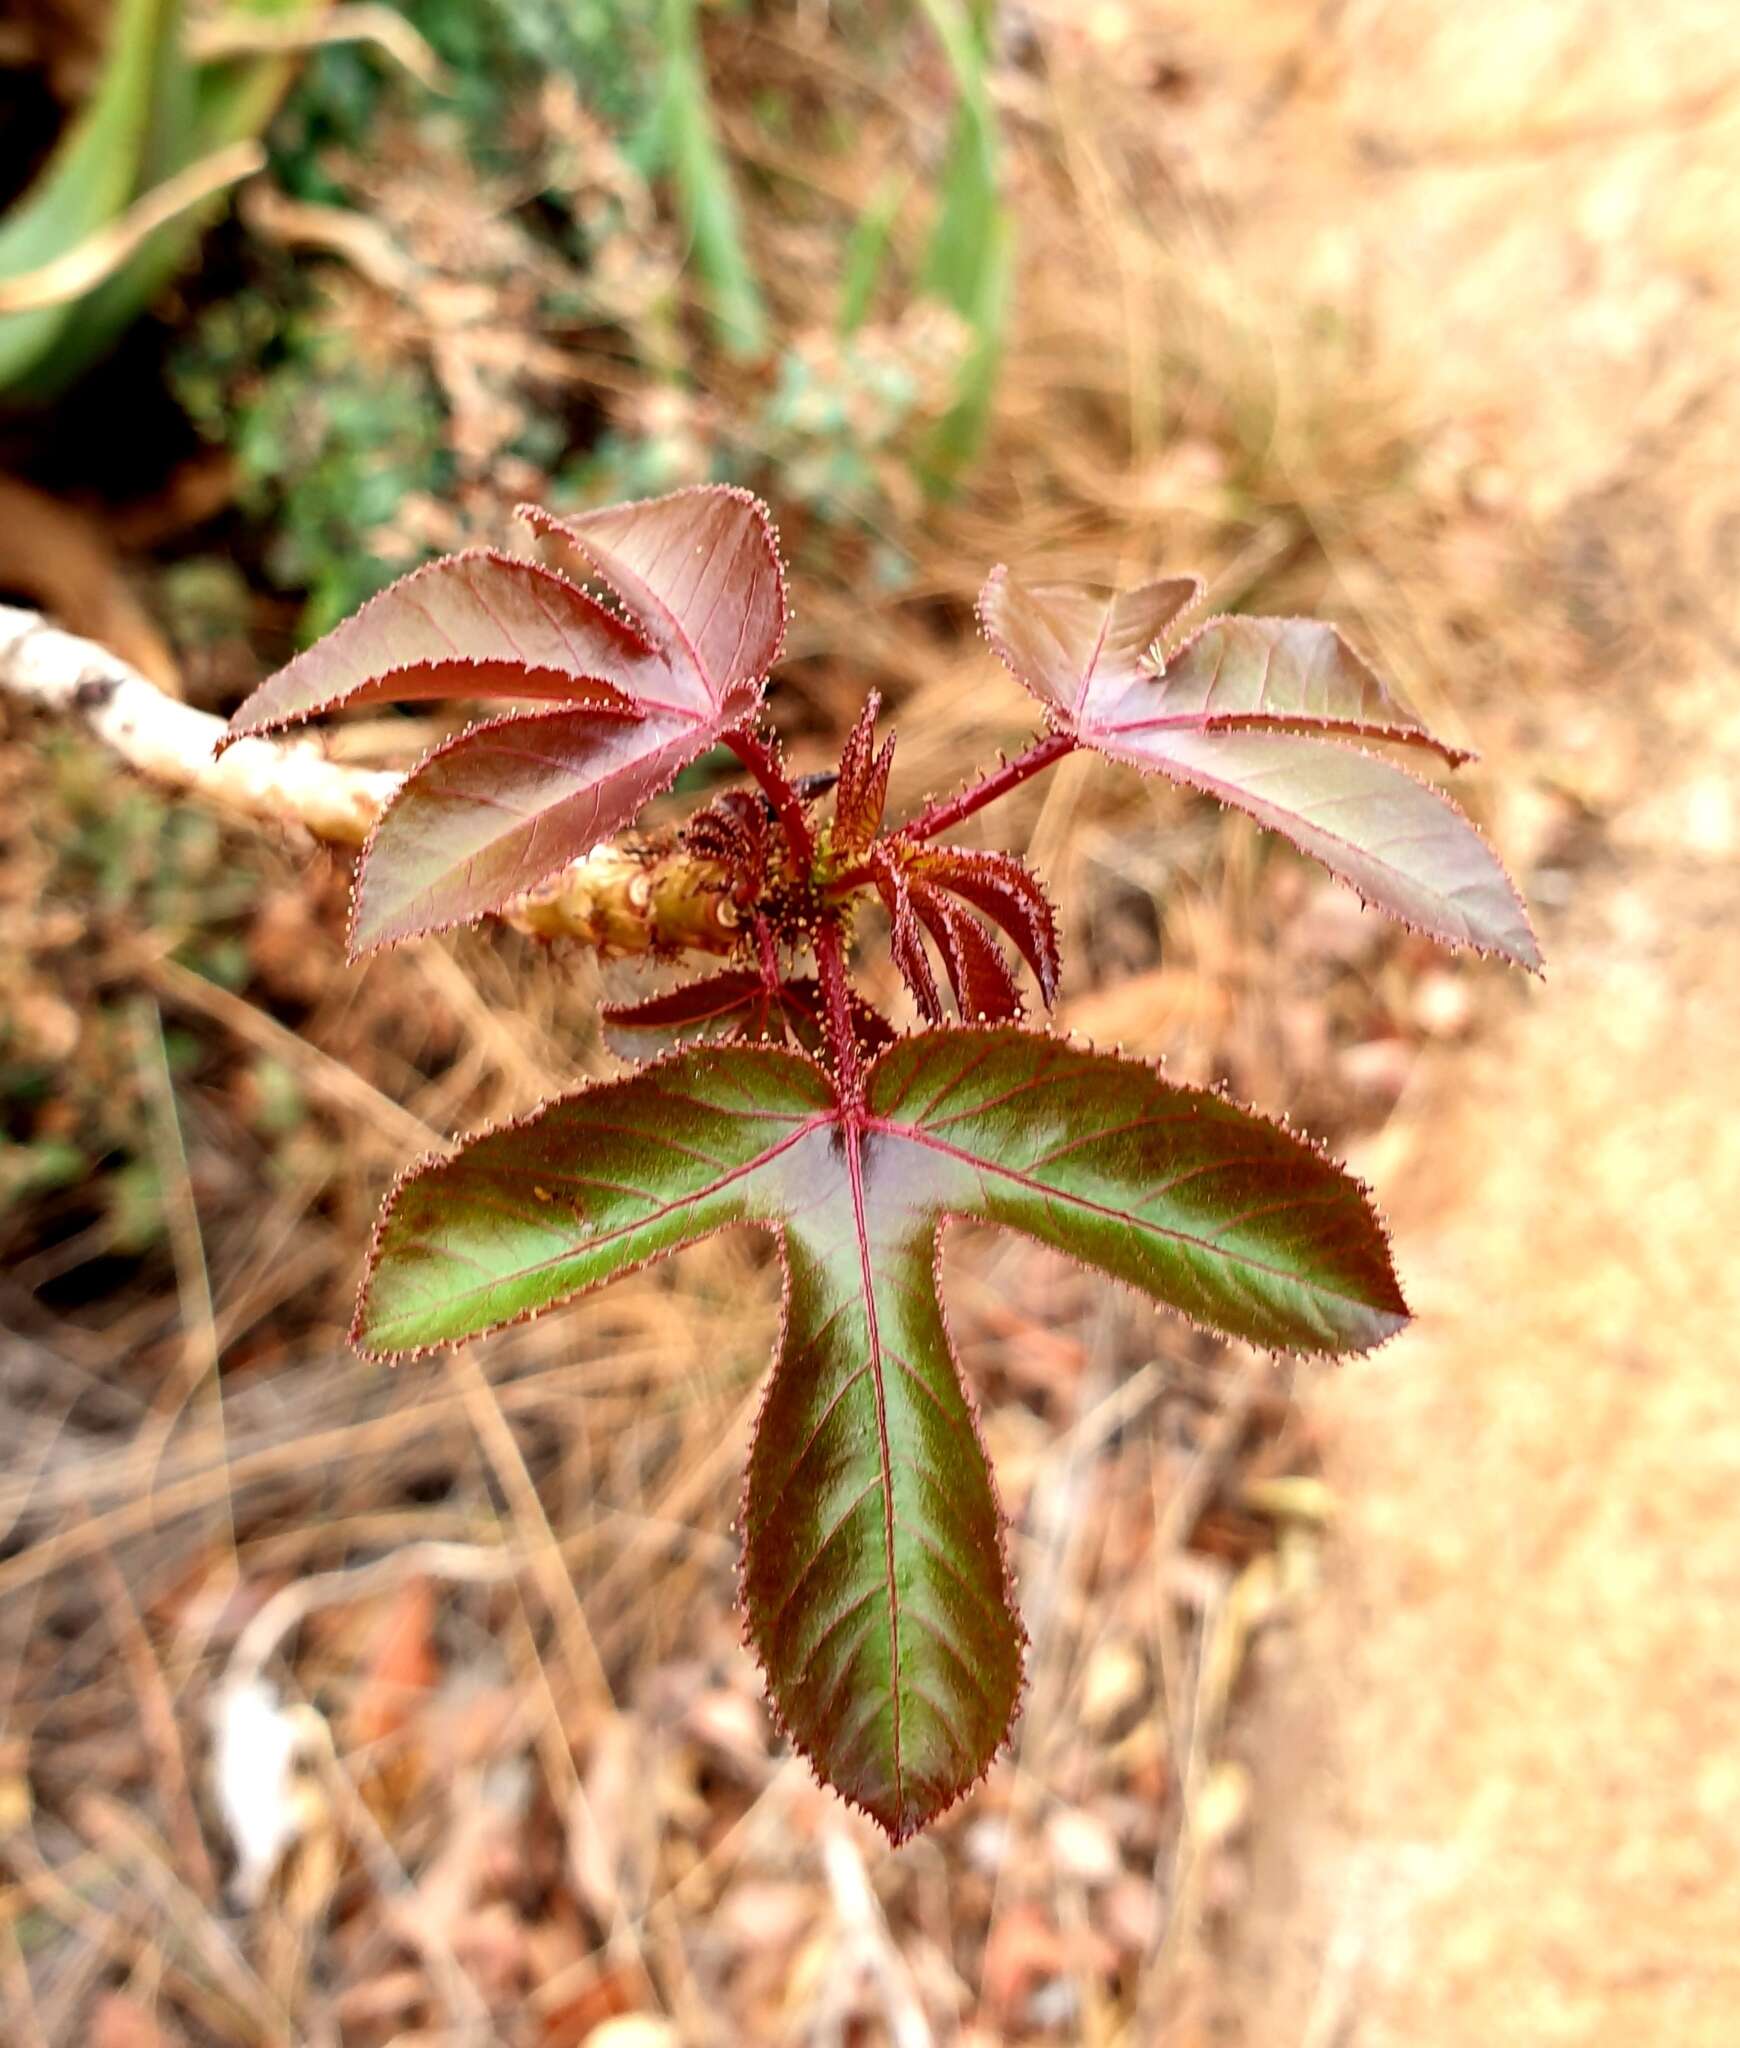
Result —
[[414, 1352], [725, 1225], [776, 1231], [786, 1315], [743, 1507], [749, 1636], [792, 1739], [897, 1841], [989, 1767], [1021, 1673], [936, 1290], [950, 1217], [1253, 1343], [1361, 1352], [1406, 1321], [1363, 1190], [1308, 1143], [1007, 1026], [899, 1040], [854, 1102], [768, 1047], [692, 1047], [553, 1102], [399, 1184], [356, 1317], [366, 1352]]

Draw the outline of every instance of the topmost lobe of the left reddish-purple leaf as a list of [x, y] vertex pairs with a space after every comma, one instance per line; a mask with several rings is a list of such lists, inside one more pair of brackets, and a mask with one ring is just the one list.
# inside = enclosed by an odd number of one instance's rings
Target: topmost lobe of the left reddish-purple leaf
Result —
[[755, 702], [786, 637], [786, 580], [759, 498], [704, 483], [600, 512], [520, 514], [622, 598], [665, 657], [676, 702], [696, 715]]

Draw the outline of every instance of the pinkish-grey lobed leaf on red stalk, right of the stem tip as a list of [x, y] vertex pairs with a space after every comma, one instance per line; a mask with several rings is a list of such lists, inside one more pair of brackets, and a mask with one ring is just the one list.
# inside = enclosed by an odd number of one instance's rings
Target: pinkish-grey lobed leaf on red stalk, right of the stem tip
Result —
[[1210, 618], [1163, 653], [1159, 637], [1198, 588], [1026, 588], [995, 569], [978, 610], [1007, 668], [1083, 745], [1249, 811], [1433, 938], [1537, 969], [1527, 911], [1462, 811], [1335, 741], [1380, 739], [1451, 766], [1468, 752], [1435, 739], [1316, 618]]

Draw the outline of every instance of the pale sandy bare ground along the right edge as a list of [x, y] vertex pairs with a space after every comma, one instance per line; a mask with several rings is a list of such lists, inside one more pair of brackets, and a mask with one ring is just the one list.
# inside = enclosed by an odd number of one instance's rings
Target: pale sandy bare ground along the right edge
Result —
[[[1304, 1397], [1343, 1511], [1249, 1731], [1253, 2044], [1740, 2030], [1740, 295], [1707, 240], [1736, 141], [1697, 10], [1660, 37], [1560, 12], [1537, 147], [1466, 147], [1435, 199], [1404, 180], [1349, 225], [1351, 260], [1382, 244], [1412, 289], [1431, 252], [1415, 317], [1462, 336], [1511, 537], [1558, 532], [1519, 586], [1533, 623], [1490, 623], [1541, 655], [1496, 764], [1511, 852], [1531, 801], [1568, 809], [1537, 877], [1548, 983], [1478, 1051], [1429, 1053], [1359, 1161], [1421, 1321]], [[1482, 31], [1423, 39], [1392, 106], [1443, 109]], [[1654, 121], [1625, 115], [1623, 47]], [[1584, 635], [1572, 688], [1541, 690], [1566, 647], [1543, 621]]]

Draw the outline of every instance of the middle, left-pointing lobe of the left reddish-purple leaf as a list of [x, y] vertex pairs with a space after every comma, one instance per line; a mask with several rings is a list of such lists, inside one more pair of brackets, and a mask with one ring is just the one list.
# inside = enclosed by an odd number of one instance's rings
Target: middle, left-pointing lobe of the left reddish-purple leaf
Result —
[[641, 635], [567, 578], [471, 549], [401, 575], [268, 676], [219, 748], [340, 705], [440, 696], [616, 705], [657, 694], [661, 674]]

